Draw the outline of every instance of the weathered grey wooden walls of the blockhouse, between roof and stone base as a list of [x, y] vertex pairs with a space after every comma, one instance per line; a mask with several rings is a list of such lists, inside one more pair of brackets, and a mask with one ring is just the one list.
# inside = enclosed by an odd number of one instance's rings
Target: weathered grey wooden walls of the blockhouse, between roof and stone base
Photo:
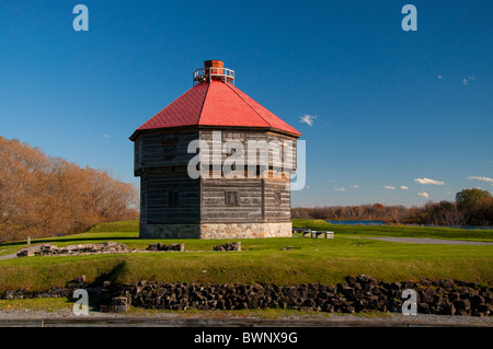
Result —
[[[268, 168], [255, 177], [225, 178], [221, 171], [210, 173], [218, 177], [192, 179], [187, 174], [188, 162], [196, 155], [188, 154], [191, 141], [200, 138], [209, 148], [209, 161], [223, 164], [231, 153], [222, 151], [226, 141], [239, 141], [243, 146], [244, 160], [249, 155], [248, 141], [293, 141], [293, 161], [296, 164], [296, 139], [272, 132], [231, 130], [162, 132], [139, 136], [135, 141], [135, 174], [140, 183], [140, 221], [144, 224], [173, 223], [250, 223], [289, 222], [289, 177], [272, 178], [273, 170], [280, 170], [282, 162], [268, 152]], [[234, 152], [233, 152], [234, 153]], [[256, 154], [256, 164], [260, 164]], [[283, 160], [289, 160], [282, 158]], [[293, 168], [291, 168], [293, 170]], [[252, 174], [252, 173], [250, 173]], [[257, 175], [257, 176], [256, 176]], [[170, 193], [176, 205], [170, 202]]]

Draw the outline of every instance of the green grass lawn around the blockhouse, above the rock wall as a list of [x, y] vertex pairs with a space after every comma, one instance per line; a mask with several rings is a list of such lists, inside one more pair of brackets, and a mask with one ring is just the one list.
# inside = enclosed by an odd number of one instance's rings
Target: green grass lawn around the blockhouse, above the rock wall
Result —
[[[295, 220], [295, 226], [300, 222]], [[62, 287], [69, 280], [85, 275], [90, 280], [131, 282], [157, 280], [199, 283], [276, 284], [331, 283], [344, 281], [348, 275], [369, 275], [386, 281], [419, 280], [420, 278], [452, 278], [493, 284], [493, 246], [403, 244], [353, 235], [413, 236], [467, 239], [471, 231], [455, 232], [401, 226], [380, 231], [353, 228], [319, 230], [335, 231], [335, 239], [308, 237], [245, 239], [241, 252], [213, 252], [222, 240], [139, 240], [136, 222], [104, 223], [82, 234], [34, 240], [33, 244], [57, 246], [121, 242], [130, 248], [145, 249], [149, 243], [184, 243], [185, 253], [147, 253], [93, 256], [24, 257], [0, 260], [0, 291], [7, 289], [46, 290]], [[329, 224], [328, 224], [329, 225]], [[385, 226], [387, 228], [387, 226]], [[427, 231], [431, 230], [431, 231]], [[354, 233], [351, 233], [353, 231]], [[420, 234], [420, 232], [422, 232]], [[409, 235], [405, 235], [409, 233]], [[475, 233], [474, 231], [472, 232]], [[479, 232], [473, 240], [491, 241], [492, 232]], [[293, 246], [290, 251], [282, 247]], [[0, 245], [0, 249], [18, 251], [25, 242]]]

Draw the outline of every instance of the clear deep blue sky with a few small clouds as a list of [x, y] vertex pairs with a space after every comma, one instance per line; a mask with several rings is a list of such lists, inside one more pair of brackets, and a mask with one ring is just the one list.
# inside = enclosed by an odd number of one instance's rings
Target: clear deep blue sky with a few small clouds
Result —
[[[78, 3], [89, 32], [73, 31]], [[220, 59], [303, 133], [293, 206], [492, 191], [492, 1], [208, 3], [1, 0], [0, 136], [138, 183], [128, 137]]]

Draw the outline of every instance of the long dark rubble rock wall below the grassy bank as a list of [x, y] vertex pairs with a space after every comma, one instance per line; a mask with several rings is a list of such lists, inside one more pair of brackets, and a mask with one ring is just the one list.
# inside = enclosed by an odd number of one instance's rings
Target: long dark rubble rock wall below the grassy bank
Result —
[[347, 277], [336, 286], [187, 284], [139, 281], [114, 290], [114, 296], [147, 309], [243, 310], [297, 309], [322, 312], [401, 312], [402, 291], [417, 293], [417, 312], [437, 315], [493, 315], [492, 289], [474, 282], [422, 280], [383, 282], [367, 276]]

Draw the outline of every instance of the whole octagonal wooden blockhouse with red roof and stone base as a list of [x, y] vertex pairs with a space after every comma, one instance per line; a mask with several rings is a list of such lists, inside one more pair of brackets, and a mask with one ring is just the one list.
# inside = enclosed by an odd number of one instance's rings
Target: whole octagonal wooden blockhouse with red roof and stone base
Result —
[[290, 175], [301, 136], [205, 61], [193, 88], [140, 126], [142, 239], [290, 236]]

